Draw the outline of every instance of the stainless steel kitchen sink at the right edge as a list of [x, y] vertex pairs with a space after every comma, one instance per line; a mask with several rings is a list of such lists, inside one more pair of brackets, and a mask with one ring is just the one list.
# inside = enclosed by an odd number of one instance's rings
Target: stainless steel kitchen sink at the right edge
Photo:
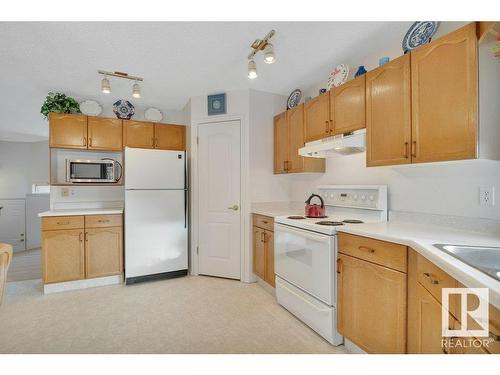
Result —
[[434, 244], [471, 267], [500, 281], [500, 247]]

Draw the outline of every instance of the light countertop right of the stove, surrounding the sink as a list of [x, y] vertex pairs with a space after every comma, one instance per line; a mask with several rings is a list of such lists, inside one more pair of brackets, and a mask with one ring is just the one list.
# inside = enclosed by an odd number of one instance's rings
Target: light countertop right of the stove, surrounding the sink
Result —
[[406, 245], [470, 288], [489, 288], [490, 303], [500, 308], [500, 281], [452, 257], [433, 244], [500, 247], [500, 235], [406, 222], [365, 223], [339, 227], [339, 232]]

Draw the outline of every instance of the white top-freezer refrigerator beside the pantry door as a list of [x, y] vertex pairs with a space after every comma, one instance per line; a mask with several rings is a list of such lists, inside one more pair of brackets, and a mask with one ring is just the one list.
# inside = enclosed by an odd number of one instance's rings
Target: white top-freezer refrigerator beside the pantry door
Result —
[[184, 151], [125, 148], [127, 284], [187, 275]]

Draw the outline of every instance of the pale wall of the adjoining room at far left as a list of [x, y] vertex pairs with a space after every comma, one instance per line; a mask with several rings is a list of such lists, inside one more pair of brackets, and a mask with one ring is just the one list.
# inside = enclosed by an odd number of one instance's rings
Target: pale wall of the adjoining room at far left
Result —
[[24, 198], [33, 183], [48, 179], [48, 141], [0, 141], [0, 198]]

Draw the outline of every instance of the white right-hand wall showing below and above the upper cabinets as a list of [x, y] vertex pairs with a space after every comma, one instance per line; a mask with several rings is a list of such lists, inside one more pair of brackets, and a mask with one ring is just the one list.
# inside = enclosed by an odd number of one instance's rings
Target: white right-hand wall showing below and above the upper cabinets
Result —
[[[441, 23], [436, 37], [463, 24]], [[376, 56], [368, 56], [362, 62], [348, 62], [352, 68], [351, 74], [354, 74], [358, 65], [365, 65], [367, 70], [371, 70], [378, 66], [380, 57], [389, 56], [393, 60], [401, 54], [400, 45], [388, 46], [386, 50]], [[321, 87], [326, 87], [326, 80], [309, 87], [305, 95], [316, 96]], [[327, 159], [326, 173], [323, 175], [286, 177], [293, 201], [303, 201], [322, 184], [386, 184], [389, 186], [391, 210], [500, 219], [500, 162], [496, 161], [471, 160], [367, 168], [366, 154], [362, 153]], [[494, 207], [479, 205], [479, 187], [483, 186], [495, 187], [497, 202]]]

